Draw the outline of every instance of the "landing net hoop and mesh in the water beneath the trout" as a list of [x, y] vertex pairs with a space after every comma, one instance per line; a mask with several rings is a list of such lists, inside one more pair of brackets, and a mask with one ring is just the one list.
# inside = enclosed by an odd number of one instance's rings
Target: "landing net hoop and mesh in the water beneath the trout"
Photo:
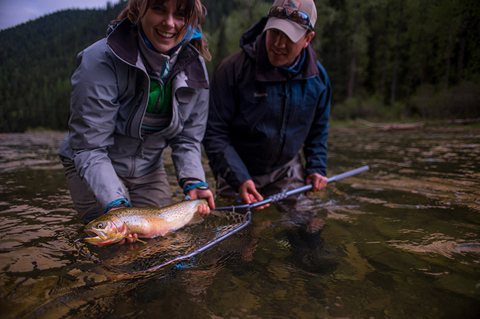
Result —
[[235, 206], [220, 209], [204, 217], [199, 224], [184, 226], [165, 237], [147, 239], [147, 244], [134, 241], [105, 249], [83, 244], [80, 238], [75, 240], [75, 248], [87, 259], [112, 272], [136, 274], [157, 270], [198, 255], [250, 224], [250, 210], [237, 213]]

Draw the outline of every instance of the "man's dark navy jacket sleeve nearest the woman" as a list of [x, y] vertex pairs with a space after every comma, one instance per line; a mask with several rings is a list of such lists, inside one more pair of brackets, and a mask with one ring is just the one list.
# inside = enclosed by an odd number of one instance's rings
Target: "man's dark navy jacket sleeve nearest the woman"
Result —
[[222, 62], [211, 82], [210, 109], [204, 147], [212, 171], [219, 174], [235, 190], [252, 177], [230, 140], [230, 123], [235, 115], [236, 86], [232, 64]]

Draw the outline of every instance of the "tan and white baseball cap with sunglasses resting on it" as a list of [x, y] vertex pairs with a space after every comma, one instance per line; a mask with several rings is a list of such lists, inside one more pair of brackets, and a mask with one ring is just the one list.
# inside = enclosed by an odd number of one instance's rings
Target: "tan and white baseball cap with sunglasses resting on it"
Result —
[[[317, 8], [313, 0], [275, 0], [272, 4], [272, 8], [281, 6], [285, 8], [287, 15], [290, 16], [294, 11], [301, 11], [307, 14], [309, 18], [309, 25], [313, 28], [317, 22]], [[272, 9], [271, 8], [271, 9]], [[305, 32], [309, 28], [309, 25], [300, 24], [291, 19], [285, 17], [285, 19], [277, 18], [275, 16], [269, 16], [267, 24], [263, 31], [267, 29], [279, 29], [281, 32], [287, 34], [292, 42], [297, 43]]]

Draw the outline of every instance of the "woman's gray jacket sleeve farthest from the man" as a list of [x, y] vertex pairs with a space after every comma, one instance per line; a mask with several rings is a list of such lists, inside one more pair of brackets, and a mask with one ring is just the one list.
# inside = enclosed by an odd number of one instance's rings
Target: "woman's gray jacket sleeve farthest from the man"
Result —
[[107, 149], [114, 143], [119, 109], [118, 89], [114, 62], [106, 53], [106, 45], [100, 47], [100, 44], [77, 57], [77, 69], [71, 78], [69, 129], [75, 168], [99, 203], [106, 207], [127, 195], [108, 158]]

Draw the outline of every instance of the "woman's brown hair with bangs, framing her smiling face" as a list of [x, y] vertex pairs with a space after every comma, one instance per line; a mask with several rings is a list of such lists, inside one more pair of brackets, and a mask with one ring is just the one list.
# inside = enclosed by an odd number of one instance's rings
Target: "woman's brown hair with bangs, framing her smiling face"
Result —
[[[167, 1], [169, 0], [128, 0], [125, 9], [120, 12], [117, 19], [113, 20], [112, 23], [119, 23], [123, 19], [128, 19], [132, 23], [139, 22], [147, 13], [148, 8], [151, 8], [153, 5], [163, 5]], [[191, 25], [192, 29], [197, 28], [199, 32], [202, 32], [202, 22], [206, 17], [206, 8], [200, 0], [177, 0], [177, 8], [185, 16], [184, 35], [187, 34], [189, 25]], [[210, 51], [208, 51], [208, 40], [203, 34], [200, 40], [191, 40], [191, 44], [205, 60], [210, 61], [212, 59]]]

